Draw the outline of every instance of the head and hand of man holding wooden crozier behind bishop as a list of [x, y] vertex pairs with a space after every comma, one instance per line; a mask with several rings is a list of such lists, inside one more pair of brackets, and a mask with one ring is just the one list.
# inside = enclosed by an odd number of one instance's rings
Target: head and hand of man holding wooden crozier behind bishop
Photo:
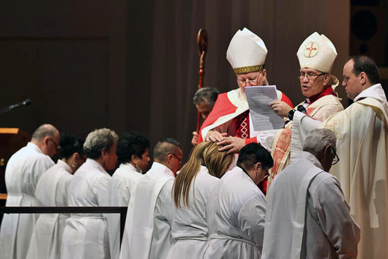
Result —
[[[206, 120], [206, 118], [208, 118], [210, 112], [213, 110], [219, 93], [217, 88], [203, 87], [198, 89], [194, 94], [192, 102], [196, 106], [197, 111], [201, 114], [202, 119]], [[200, 135], [197, 131], [192, 132], [191, 144], [193, 146], [198, 144], [199, 137]]]

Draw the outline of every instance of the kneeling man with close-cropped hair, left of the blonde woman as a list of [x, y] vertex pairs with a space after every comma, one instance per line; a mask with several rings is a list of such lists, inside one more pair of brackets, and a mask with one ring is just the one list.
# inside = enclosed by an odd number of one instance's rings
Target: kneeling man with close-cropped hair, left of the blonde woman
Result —
[[121, 259], [164, 259], [171, 246], [171, 189], [182, 162], [182, 148], [162, 138], [154, 148], [154, 163], [131, 194], [121, 242]]

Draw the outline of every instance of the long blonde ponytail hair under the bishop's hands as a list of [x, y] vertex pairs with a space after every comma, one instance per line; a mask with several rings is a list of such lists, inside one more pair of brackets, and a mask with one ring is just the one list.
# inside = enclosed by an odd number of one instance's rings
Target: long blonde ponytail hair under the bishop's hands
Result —
[[188, 192], [193, 180], [197, 177], [201, 165], [205, 166], [212, 176], [221, 178], [234, 159], [234, 154], [226, 154], [227, 151], [218, 151], [221, 146], [215, 142], [201, 142], [190, 153], [190, 158], [176, 176], [172, 187], [172, 195], [176, 208], [188, 207]]

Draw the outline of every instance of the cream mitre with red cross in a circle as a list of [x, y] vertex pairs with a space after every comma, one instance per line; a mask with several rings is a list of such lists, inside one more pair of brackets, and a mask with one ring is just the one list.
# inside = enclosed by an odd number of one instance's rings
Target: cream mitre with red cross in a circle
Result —
[[314, 32], [302, 42], [296, 56], [298, 56], [300, 68], [312, 68], [330, 73], [337, 57], [337, 50], [328, 37]]

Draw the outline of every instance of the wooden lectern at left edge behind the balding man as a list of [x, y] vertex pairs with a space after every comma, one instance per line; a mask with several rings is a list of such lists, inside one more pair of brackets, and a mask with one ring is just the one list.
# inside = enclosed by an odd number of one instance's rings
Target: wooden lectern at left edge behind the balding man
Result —
[[[19, 128], [0, 128], [0, 206], [6, 205], [6, 166], [11, 156], [31, 140], [31, 135]], [[0, 222], [3, 215], [0, 215]]]

